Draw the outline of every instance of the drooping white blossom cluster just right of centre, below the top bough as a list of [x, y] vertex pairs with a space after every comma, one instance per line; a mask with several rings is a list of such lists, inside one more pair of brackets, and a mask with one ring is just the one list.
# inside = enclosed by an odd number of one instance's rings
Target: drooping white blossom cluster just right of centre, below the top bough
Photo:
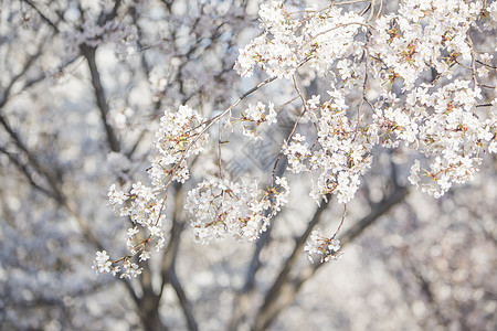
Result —
[[347, 203], [359, 188], [360, 175], [370, 167], [371, 143], [347, 117], [345, 96], [338, 90], [329, 94], [331, 99], [320, 105], [316, 98], [308, 102], [309, 110], [318, 118], [318, 148], [310, 151], [308, 145], [302, 143], [305, 137], [296, 135], [283, 151], [288, 158], [288, 170], [294, 173], [319, 172], [310, 192], [316, 202], [327, 194], [337, 194], [340, 203]]

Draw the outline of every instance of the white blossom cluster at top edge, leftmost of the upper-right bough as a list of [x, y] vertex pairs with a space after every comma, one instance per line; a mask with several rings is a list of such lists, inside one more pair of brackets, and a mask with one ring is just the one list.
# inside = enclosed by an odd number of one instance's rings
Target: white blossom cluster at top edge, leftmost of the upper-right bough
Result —
[[326, 74], [337, 58], [362, 52], [355, 36], [366, 25], [357, 13], [329, 7], [307, 9], [300, 20], [292, 19], [295, 14], [278, 0], [261, 4], [258, 14], [264, 33], [240, 50], [235, 70], [242, 76], [251, 76], [260, 65], [272, 77], [288, 78], [307, 61]]

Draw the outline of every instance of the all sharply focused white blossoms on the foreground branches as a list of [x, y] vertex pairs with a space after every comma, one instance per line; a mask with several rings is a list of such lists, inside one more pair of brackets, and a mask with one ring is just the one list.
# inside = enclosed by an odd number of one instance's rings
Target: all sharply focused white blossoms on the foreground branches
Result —
[[[327, 100], [316, 95], [303, 105], [302, 118], [310, 119], [313, 136], [296, 132], [297, 119], [282, 147], [288, 170], [317, 174], [310, 191], [316, 202], [335, 194], [339, 203], [347, 203], [372, 162], [371, 149], [402, 143], [427, 158], [415, 160], [409, 175], [422, 191], [438, 197], [453, 183], [472, 179], [482, 154], [497, 152], [495, 79], [488, 78], [496, 73], [491, 61], [497, 49], [494, 44], [478, 50], [472, 34], [495, 29], [497, 2], [406, 0], [398, 12], [379, 14], [371, 22], [347, 11], [347, 3], [288, 12], [282, 0], [266, 1], [260, 10], [263, 34], [240, 50], [235, 64], [240, 75], [251, 76], [261, 67], [271, 77], [292, 79], [303, 100], [307, 97], [298, 88], [300, 72], [329, 79]], [[103, 33], [98, 29], [108, 29], [89, 28], [80, 44], [91, 44]], [[156, 94], [163, 93], [167, 81], [151, 81]], [[149, 169], [152, 188], [136, 183], [129, 193], [110, 188], [116, 213], [135, 224], [128, 231], [130, 255], [120, 259], [125, 277], [139, 273], [130, 256], [149, 258], [150, 242], [158, 249], [163, 246], [168, 188], [173, 180], [189, 179], [188, 158], [202, 151], [212, 124], [222, 118], [230, 125], [242, 122], [243, 134], [258, 139], [262, 124], [276, 122], [273, 103], [250, 104], [240, 118], [233, 118], [231, 110], [239, 102], [209, 120], [188, 106], [166, 111]], [[423, 168], [424, 163], [429, 166]], [[257, 238], [287, 202], [286, 179], [275, 183], [260, 189], [256, 181], [213, 178], [198, 184], [186, 205], [195, 239], [209, 243], [226, 234]], [[141, 238], [140, 228], [147, 232]], [[321, 255], [321, 260], [335, 259], [340, 248], [335, 236], [314, 232], [305, 250]], [[112, 270], [114, 261], [109, 266], [106, 253], [98, 254], [95, 268]]]

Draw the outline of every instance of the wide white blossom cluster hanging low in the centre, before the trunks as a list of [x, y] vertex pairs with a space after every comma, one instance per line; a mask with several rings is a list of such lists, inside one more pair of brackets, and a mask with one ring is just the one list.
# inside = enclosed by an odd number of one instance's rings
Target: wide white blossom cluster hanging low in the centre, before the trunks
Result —
[[260, 189], [257, 181], [234, 183], [212, 179], [188, 192], [186, 209], [193, 217], [195, 241], [202, 244], [213, 238], [234, 235], [250, 241], [266, 231], [269, 220], [288, 201], [289, 186], [285, 178], [276, 185]]

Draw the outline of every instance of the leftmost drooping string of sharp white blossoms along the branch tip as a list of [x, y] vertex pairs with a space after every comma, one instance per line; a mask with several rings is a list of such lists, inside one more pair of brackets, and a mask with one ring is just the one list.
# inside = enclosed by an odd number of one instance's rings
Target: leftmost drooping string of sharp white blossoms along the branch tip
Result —
[[[123, 263], [121, 277], [134, 277], [140, 274], [139, 266], [131, 261], [131, 257], [139, 255], [139, 260], [150, 258], [150, 244], [155, 244], [156, 250], [165, 246], [162, 232], [166, 215], [163, 213], [166, 196], [160, 196], [171, 181], [184, 182], [189, 178], [187, 160], [189, 157], [202, 151], [202, 145], [208, 135], [203, 132], [204, 119], [194, 109], [181, 106], [178, 111], [165, 111], [160, 119], [160, 127], [156, 132], [157, 153], [151, 161], [148, 177], [151, 186], [141, 182], [131, 185], [129, 192], [125, 192], [113, 184], [108, 191], [109, 205], [119, 216], [129, 217], [135, 225], [127, 232], [126, 246], [128, 255], [110, 261], [103, 261], [103, 252], [97, 253], [95, 269], [103, 273], [112, 270], [112, 274], [120, 271], [117, 263]], [[145, 232], [142, 232], [145, 229]]]

